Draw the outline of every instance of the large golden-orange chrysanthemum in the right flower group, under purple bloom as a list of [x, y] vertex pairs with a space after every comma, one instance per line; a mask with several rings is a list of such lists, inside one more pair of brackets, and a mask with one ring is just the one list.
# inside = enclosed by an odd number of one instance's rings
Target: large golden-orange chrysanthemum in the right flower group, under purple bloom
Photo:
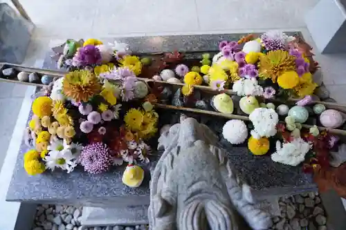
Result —
[[284, 50], [273, 50], [260, 55], [259, 75], [266, 79], [271, 78], [275, 83], [279, 75], [286, 71], [295, 70], [295, 57]]

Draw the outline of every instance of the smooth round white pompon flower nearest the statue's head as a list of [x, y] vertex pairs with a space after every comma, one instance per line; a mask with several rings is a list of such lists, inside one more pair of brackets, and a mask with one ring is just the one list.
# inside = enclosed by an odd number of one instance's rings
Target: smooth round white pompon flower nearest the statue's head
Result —
[[231, 119], [222, 128], [222, 135], [230, 144], [242, 144], [248, 137], [248, 129], [243, 121]]

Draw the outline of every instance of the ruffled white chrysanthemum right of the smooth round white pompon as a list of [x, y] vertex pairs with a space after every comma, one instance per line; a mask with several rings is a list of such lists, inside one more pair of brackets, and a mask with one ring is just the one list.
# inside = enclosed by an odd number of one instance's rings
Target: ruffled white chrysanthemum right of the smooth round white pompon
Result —
[[251, 135], [256, 139], [272, 137], [276, 134], [279, 115], [275, 113], [273, 108], [255, 108], [248, 118], [253, 122], [254, 129], [251, 131]]

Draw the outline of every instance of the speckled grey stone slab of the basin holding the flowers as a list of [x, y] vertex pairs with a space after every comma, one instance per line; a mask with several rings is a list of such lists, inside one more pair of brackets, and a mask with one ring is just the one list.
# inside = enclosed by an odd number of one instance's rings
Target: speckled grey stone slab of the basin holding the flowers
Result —
[[[290, 32], [289, 34], [300, 33]], [[131, 37], [116, 39], [116, 41], [128, 43], [134, 52], [160, 52], [161, 50], [205, 52], [217, 51], [217, 44], [221, 40], [237, 40], [244, 35]], [[111, 40], [108, 39], [108, 41]], [[44, 68], [55, 69], [55, 63], [49, 58], [49, 53], [44, 61]], [[161, 124], [175, 124], [179, 121], [178, 113], [172, 113], [172, 111], [158, 111], [158, 113], [161, 114]], [[197, 116], [196, 114], [189, 115]], [[212, 130], [221, 137], [221, 129], [227, 121], [226, 119], [219, 117], [213, 119], [210, 116], [197, 118], [203, 119], [203, 124], [212, 126]], [[311, 176], [302, 173], [299, 166], [277, 164], [269, 156], [257, 157], [249, 153], [246, 145], [231, 146], [222, 141], [219, 144], [226, 148], [239, 177], [253, 186], [258, 198], [266, 195], [289, 195], [316, 191], [316, 185], [313, 184]], [[22, 143], [6, 197], [8, 201], [73, 204], [86, 207], [124, 207], [149, 204], [149, 167], [145, 167], [146, 179], [143, 185], [137, 189], [131, 189], [122, 184], [122, 168], [113, 169], [113, 171], [101, 175], [89, 175], [78, 168], [70, 174], [54, 171], [30, 177], [23, 168], [23, 155], [26, 151], [28, 151], [28, 147]], [[155, 166], [155, 163], [156, 161], [152, 160], [151, 166]]]

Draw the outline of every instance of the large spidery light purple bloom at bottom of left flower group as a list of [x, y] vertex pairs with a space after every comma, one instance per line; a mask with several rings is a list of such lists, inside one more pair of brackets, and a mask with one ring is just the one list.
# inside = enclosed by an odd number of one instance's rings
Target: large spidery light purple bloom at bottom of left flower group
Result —
[[103, 173], [109, 171], [111, 166], [109, 148], [102, 142], [88, 144], [80, 153], [80, 164], [88, 173]]

